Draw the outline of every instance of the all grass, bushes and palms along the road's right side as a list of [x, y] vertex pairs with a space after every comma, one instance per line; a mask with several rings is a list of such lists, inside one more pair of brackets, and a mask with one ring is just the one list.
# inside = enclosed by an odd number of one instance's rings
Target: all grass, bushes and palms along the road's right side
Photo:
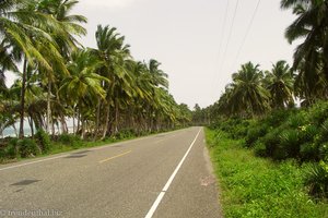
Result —
[[281, 0], [295, 21], [290, 66], [247, 62], [198, 108], [226, 217], [328, 217], [328, 1]]

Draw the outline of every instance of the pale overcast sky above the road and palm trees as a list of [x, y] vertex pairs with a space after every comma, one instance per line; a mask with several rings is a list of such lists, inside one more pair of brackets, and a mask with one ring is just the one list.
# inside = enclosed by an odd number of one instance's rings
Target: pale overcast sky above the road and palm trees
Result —
[[80, 39], [85, 47], [96, 47], [98, 24], [116, 27], [136, 60], [162, 63], [169, 93], [192, 109], [216, 101], [243, 63], [262, 70], [282, 59], [292, 63], [295, 45], [284, 29], [294, 16], [280, 10], [280, 0], [259, 2], [254, 13], [258, 0], [80, 0], [72, 13], [89, 20]]

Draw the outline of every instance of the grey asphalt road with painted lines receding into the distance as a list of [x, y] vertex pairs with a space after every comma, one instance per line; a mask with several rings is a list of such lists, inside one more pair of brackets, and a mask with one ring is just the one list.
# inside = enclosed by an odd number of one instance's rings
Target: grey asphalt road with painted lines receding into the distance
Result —
[[0, 218], [214, 218], [201, 128], [0, 166]]

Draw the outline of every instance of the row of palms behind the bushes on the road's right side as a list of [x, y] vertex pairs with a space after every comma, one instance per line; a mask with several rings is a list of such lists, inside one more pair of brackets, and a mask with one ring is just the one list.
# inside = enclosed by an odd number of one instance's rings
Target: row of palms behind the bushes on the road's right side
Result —
[[221, 98], [203, 113], [254, 117], [271, 109], [309, 106], [328, 98], [328, 0], [281, 0], [292, 9], [295, 21], [286, 28], [289, 43], [304, 39], [290, 68], [278, 61], [271, 71], [251, 62], [232, 75]]

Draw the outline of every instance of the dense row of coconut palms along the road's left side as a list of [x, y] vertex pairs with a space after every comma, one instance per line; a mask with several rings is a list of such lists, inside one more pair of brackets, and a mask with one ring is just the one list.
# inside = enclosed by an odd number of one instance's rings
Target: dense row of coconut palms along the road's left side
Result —
[[[98, 25], [97, 48], [84, 48], [86, 17], [71, 14], [77, 0], [0, 1], [0, 133], [20, 119], [36, 129], [104, 138], [187, 124], [190, 111], [168, 93], [156, 60], [136, 61], [116, 28]], [[19, 80], [8, 88], [5, 72]]]

